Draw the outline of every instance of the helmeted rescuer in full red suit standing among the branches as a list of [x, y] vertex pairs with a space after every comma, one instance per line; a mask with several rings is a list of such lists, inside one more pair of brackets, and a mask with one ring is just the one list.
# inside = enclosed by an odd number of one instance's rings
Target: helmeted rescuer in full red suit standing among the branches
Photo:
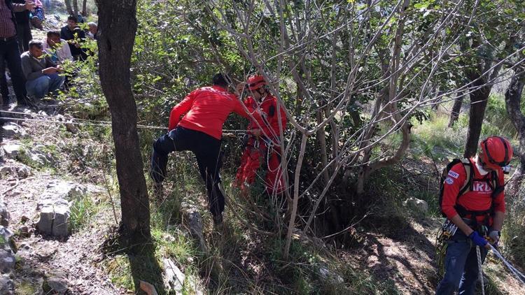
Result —
[[[260, 110], [261, 117], [253, 118], [248, 125], [246, 149], [237, 170], [235, 186], [242, 194], [255, 181], [258, 168], [267, 166], [265, 187], [268, 194], [279, 194], [286, 189], [281, 169], [280, 136], [286, 128], [286, 113], [269, 94], [265, 78], [253, 75], [248, 78], [246, 88], [251, 96], [244, 101], [249, 110]], [[280, 122], [280, 123], [279, 123]]]

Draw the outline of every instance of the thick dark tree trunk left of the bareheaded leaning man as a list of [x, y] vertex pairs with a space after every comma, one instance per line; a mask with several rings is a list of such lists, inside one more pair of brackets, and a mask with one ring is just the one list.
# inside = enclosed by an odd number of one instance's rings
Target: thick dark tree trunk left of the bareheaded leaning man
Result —
[[137, 105], [130, 83], [137, 1], [97, 0], [97, 5], [99, 73], [112, 118], [122, 210], [120, 233], [127, 245], [144, 245], [151, 240], [150, 210], [137, 134]]

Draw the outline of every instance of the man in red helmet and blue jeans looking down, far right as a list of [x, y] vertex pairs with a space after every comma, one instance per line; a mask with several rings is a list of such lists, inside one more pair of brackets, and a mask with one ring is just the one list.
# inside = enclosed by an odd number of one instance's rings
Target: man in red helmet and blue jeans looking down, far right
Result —
[[[444, 278], [436, 294], [474, 294], [479, 270], [476, 247], [482, 260], [496, 244], [505, 216], [503, 169], [512, 159], [507, 139], [490, 136], [479, 144], [476, 157], [449, 170], [443, 183], [442, 213], [457, 226], [448, 241]], [[487, 237], [489, 241], [486, 240]]]

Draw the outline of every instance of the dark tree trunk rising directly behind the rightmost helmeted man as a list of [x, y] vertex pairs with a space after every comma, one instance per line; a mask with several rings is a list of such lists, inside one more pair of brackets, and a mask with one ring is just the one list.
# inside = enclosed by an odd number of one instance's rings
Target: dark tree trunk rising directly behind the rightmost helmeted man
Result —
[[472, 87], [479, 88], [474, 92], [470, 92], [470, 117], [468, 119], [465, 152], [463, 153], [463, 157], [465, 158], [473, 157], [477, 152], [477, 143], [479, 142], [483, 119], [485, 117], [486, 103], [489, 101], [489, 94], [491, 92], [491, 86], [484, 84], [485, 80], [483, 78], [477, 79]]

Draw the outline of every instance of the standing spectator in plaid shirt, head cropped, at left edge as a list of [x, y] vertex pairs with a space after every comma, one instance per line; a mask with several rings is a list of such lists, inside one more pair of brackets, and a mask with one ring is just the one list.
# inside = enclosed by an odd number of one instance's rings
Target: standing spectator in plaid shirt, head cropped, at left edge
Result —
[[[34, 8], [34, 3], [13, 3], [12, 0], [0, 0], [0, 65], [7, 63], [19, 106], [27, 106], [24, 76], [18, 49], [15, 13]], [[2, 73], [4, 75], [5, 72]], [[5, 75], [4, 75], [5, 77]], [[4, 105], [6, 101], [3, 101]]]

